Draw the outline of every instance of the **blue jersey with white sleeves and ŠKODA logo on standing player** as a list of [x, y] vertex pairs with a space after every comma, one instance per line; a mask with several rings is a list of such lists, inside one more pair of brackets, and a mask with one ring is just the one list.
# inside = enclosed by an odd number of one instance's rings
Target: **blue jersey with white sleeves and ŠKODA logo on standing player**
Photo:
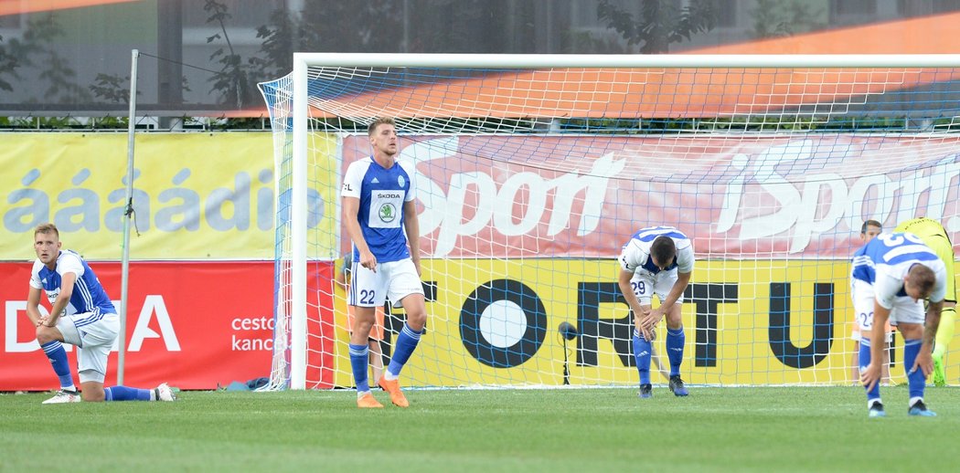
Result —
[[[413, 201], [414, 165], [397, 160], [390, 169], [380, 166], [372, 156], [352, 162], [344, 176], [342, 197], [360, 199], [357, 221], [378, 263], [390, 263], [410, 257], [403, 230], [403, 203]], [[353, 261], [360, 253], [353, 248]]]

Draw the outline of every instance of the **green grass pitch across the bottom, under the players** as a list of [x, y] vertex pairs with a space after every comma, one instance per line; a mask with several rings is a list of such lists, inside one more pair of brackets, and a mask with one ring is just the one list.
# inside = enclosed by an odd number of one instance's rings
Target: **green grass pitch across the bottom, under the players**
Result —
[[[960, 389], [906, 414], [905, 387], [187, 391], [173, 403], [0, 395], [0, 471], [950, 471]], [[920, 468], [918, 470], [917, 468]]]

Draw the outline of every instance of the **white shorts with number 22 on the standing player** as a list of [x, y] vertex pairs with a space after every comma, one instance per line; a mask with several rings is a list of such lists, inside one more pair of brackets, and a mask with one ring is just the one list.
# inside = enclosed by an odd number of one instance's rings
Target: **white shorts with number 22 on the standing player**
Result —
[[414, 260], [407, 258], [390, 263], [377, 263], [376, 272], [353, 264], [353, 275], [347, 303], [360, 307], [382, 306], [389, 297], [394, 307], [400, 307], [403, 297], [423, 294], [423, 283]]

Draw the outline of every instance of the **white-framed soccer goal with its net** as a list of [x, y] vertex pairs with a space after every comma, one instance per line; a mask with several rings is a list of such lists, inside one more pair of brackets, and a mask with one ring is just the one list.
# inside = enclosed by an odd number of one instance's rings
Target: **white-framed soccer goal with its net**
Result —
[[[339, 183], [380, 116], [417, 169], [429, 317], [404, 386], [635, 385], [617, 256], [651, 225], [696, 252], [688, 384], [852, 384], [863, 222], [926, 216], [960, 237], [958, 81], [960, 55], [297, 54], [261, 84], [276, 144], [271, 386], [352, 386], [331, 282], [350, 250]], [[385, 358], [402, 321], [387, 311]]]

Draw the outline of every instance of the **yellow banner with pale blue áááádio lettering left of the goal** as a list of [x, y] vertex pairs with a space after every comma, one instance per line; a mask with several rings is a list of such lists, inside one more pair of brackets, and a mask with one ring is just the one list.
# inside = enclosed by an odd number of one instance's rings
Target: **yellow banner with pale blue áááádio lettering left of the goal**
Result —
[[[120, 259], [127, 139], [124, 133], [4, 134], [0, 259], [36, 257], [33, 229], [45, 222], [60, 228], [64, 248], [89, 259]], [[316, 176], [325, 169], [335, 179], [336, 141], [319, 137], [314, 146]], [[134, 168], [132, 259], [274, 258], [271, 133], [138, 134]], [[324, 209], [336, 208], [336, 185], [311, 186], [307, 224], [332, 242], [336, 222]]]

